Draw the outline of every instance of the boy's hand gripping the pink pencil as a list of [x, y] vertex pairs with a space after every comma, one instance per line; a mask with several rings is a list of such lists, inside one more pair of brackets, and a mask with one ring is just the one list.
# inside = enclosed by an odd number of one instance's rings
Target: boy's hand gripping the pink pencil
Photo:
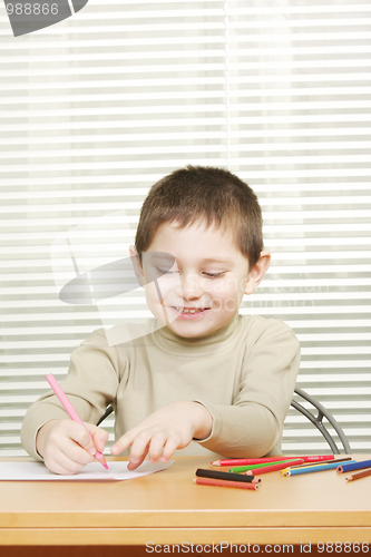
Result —
[[45, 465], [50, 471], [60, 475], [77, 473], [89, 462], [94, 462], [94, 455], [102, 452], [108, 433], [104, 429], [85, 423], [91, 433], [80, 423], [72, 420], [50, 420], [38, 432], [36, 448]]

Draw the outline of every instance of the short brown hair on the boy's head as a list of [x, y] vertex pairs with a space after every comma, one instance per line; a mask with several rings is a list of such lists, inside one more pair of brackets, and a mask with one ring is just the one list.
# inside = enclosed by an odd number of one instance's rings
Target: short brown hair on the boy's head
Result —
[[256, 195], [228, 170], [191, 165], [150, 188], [135, 238], [139, 257], [163, 224], [176, 222], [183, 228], [197, 221], [231, 229], [250, 268], [256, 264], [263, 250], [262, 212]]

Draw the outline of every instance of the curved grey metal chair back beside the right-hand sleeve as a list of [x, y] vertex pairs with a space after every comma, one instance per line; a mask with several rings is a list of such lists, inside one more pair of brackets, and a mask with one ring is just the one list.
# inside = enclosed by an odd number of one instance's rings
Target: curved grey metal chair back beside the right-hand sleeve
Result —
[[331, 447], [331, 450], [334, 455], [340, 455], [340, 451], [338, 449], [338, 446], [334, 441], [334, 439], [331, 437], [331, 433], [329, 430], [325, 428], [323, 423], [323, 418], [328, 420], [328, 422], [331, 424], [331, 427], [335, 430], [342, 446], [344, 449], [345, 455], [351, 455], [352, 450], [350, 448], [350, 444], [348, 442], [348, 439], [345, 437], [345, 433], [334, 419], [334, 417], [326, 410], [314, 397], [311, 394], [307, 394], [307, 392], [303, 391], [303, 389], [300, 389], [299, 387], [295, 388], [295, 393], [300, 395], [302, 399], [304, 399], [306, 402], [309, 402], [316, 411], [318, 414], [315, 416], [313, 411], [307, 410], [304, 408], [297, 400], [293, 399], [291, 402], [291, 405], [301, 412], [305, 418], [307, 418], [313, 426], [316, 427], [319, 431], [321, 431], [322, 436], [324, 439], [328, 441], [329, 446]]

